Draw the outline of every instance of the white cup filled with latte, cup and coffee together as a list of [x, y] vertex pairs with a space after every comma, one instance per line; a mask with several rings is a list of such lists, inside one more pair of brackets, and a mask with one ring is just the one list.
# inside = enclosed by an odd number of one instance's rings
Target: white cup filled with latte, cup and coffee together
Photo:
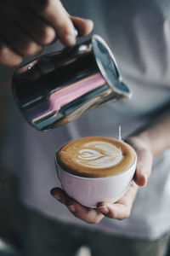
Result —
[[55, 163], [65, 192], [86, 207], [117, 201], [136, 168], [134, 149], [111, 137], [82, 137], [59, 148]]

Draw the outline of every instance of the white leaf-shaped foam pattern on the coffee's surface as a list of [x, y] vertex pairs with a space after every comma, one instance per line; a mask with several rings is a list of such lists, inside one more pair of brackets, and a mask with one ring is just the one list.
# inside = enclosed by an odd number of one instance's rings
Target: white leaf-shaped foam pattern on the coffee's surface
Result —
[[78, 152], [75, 159], [82, 166], [107, 168], [115, 166], [122, 160], [121, 148], [116, 148], [111, 143], [93, 142], [87, 143], [86, 146], [87, 148]]

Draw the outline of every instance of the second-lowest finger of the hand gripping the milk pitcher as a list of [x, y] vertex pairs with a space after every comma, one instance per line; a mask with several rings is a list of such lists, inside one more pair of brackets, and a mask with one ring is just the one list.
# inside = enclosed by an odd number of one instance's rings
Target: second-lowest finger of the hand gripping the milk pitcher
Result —
[[29, 38], [19, 26], [6, 24], [5, 29], [3, 26], [0, 26], [0, 31], [3, 40], [9, 45], [12, 45], [13, 49], [16, 50], [16, 53], [19, 53], [19, 55], [33, 56], [42, 51], [42, 46]]

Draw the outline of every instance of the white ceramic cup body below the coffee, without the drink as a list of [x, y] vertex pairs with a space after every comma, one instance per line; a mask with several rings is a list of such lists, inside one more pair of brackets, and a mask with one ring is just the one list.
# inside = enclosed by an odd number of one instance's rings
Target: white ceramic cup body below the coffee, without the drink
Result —
[[[131, 147], [132, 148], [132, 147]], [[132, 148], [133, 149], [133, 148]], [[82, 206], [95, 208], [99, 202], [114, 203], [127, 192], [136, 170], [137, 155], [125, 172], [110, 177], [79, 177], [63, 170], [55, 157], [55, 166], [61, 188]]]

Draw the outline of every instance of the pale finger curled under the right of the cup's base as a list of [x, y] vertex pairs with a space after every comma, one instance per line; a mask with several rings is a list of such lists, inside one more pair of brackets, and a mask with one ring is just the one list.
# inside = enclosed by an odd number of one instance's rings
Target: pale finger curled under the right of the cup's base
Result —
[[108, 218], [115, 218], [122, 220], [128, 218], [133, 206], [133, 201], [135, 199], [136, 193], [138, 191], [138, 186], [136, 183], [132, 182], [127, 193], [122, 196], [122, 198], [114, 204], [101, 202], [98, 204], [98, 211]]

